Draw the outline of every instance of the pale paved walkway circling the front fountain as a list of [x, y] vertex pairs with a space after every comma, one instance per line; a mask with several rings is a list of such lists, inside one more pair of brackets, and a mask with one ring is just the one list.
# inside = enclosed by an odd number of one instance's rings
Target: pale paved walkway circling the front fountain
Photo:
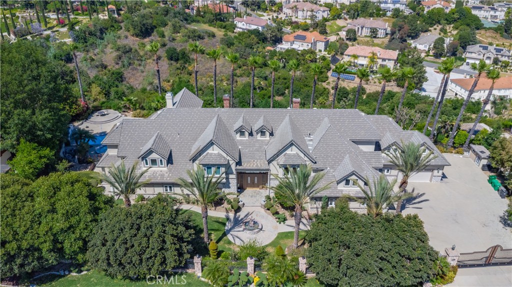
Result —
[[[195, 205], [183, 204], [180, 205], [179, 208], [201, 212], [201, 208]], [[293, 220], [287, 220], [284, 224], [278, 224], [274, 217], [267, 214], [261, 207], [244, 206], [240, 212], [234, 214], [208, 210], [208, 216], [226, 218], [228, 220], [225, 227], [226, 235], [231, 242], [237, 245], [241, 245], [250, 240], [256, 240], [260, 245], [267, 245], [278, 236], [278, 233], [295, 230]], [[254, 219], [263, 226], [259, 233], [250, 234], [243, 231], [243, 224], [249, 219]], [[309, 222], [303, 219], [301, 230], [307, 230], [309, 226]]]

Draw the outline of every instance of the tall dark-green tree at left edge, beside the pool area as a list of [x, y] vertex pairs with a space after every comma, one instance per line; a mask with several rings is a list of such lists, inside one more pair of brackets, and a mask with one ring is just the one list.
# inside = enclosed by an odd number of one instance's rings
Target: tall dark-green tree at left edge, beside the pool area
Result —
[[0, 61], [2, 149], [15, 151], [20, 139], [57, 150], [78, 101], [73, 72], [47, 57], [39, 41], [3, 42]]

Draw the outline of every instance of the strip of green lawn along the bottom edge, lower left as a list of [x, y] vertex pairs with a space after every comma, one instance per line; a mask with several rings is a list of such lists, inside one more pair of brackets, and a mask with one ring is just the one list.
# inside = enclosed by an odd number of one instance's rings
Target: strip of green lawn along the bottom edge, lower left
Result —
[[[176, 280], [175, 275], [167, 275], [167, 279], [170, 280], [174, 278]], [[182, 281], [181, 276], [186, 281], [185, 284], [180, 284], [180, 286], [194, 286], [194, 287], [203, 287], [210, 286], [210, 284], [199, 280], [192, 273], [180, 273], [177, 274], [177, 280], [175, 282], [184, 283]], [[150, 280], [153, 278], [150, 278]], [[150, 283], [157, 283], [154, 281], [149, 281]], [[69, 286], [79, 286], [79, 287], [139, 287], [139, 286], [148, 286], [148, 282], [146, 280], [141, 281], [131, 281], [131, 280], [121, 280], [121, 279], [112, 279], [109, 276], [103, 275], [98, 271], [90, 271], [83, 275], [67, 275], [67, 276], [59, 276], [59, 275], [48, 275], [42, 277], [41, 281], [36, 281], [38, 286], [52, 286], [52, 287], [69, 287]], [[163, 280], [161, 281], [163, 284]], [[176, 284], [176, 283], [175, 283]], [[166, 285], [173, 285], [167, 281]], [[314, 286], [314, 285], [311, 285]]]

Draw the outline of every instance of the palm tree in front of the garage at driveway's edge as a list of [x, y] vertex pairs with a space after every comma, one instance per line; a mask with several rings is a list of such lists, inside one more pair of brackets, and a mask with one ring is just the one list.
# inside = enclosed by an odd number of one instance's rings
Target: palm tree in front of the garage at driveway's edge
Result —
[[[433, 155], [432, 151], [426, 152], [425, 148], [413, 141], [407, 143], [402, 141], [402, 149], [398, 149], [398, 152], [386, 151], [385, 154], [390, 158], [390, 162], [396, 166], [398, 172], [402, 174], [400, 185], [398, 185], [399, 193], [406, 192], [410, 177], [423, 171], [433, 159], [437, 158], [437, 155]], [[400, 213], [401, 208], [402, 201], [399, 200], [396, 204], [396, 213]]]

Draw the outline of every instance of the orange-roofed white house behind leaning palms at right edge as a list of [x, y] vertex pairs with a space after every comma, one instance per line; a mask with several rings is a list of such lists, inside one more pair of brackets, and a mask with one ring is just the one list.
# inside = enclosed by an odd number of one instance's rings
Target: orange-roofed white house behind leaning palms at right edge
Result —
[[[471, 89], [474, 78], [471, 79], [450, 79], [449, 85], [449, 95], [454, 95], [455, 97], [461, 97], [465, 99], [467, 97], [467, 93]], [[471, 96], [472, 100], [482, 101], [487, 97], [487, 93], [489, 92], [490, 85], [493, 81], [485, 78], [485, 74], [480, 77], [478, 80], [478, 84], [475, 87], [475, 91]], [[512, 77], [502, 77], [496, 80], [494, 83], [493, 94], [491, 99], [494, 99], [498, 96], [504, 96], [505, 98], [512, 98]]]

